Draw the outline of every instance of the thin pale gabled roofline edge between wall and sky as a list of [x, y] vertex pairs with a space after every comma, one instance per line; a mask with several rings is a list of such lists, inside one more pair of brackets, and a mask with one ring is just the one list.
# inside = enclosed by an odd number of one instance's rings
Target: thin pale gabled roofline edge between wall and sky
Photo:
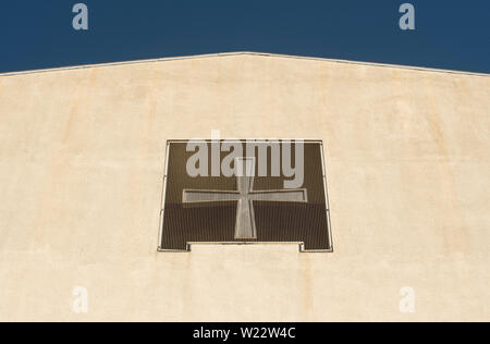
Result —
[[0, 73], [0, 76], [13, 76], [13, 75], [25, 75], [25, 74], [35, 74], [35, 73], [48, 73], [48, 72], [93, 69], [93, 67], [102, 67], [102, 66], [115, 66], [115, 65], [125, 65], [125, 64], [139, 64], [139, 63], [151, 63], [151, 62], [163, 62], [163, 61], [175, 61], [175, 60], [191, 60], [191, 59], [209, 59], [209, 58], [235, 57], [235, 56], [259, 56], [259, 57], [271, 57], [271, 58], [282, 58], [282, 59], [298, 59], [298, 60], [311, 60], [311, 61], [322, 61], [322, 62], [333, 62], [333, 63], [347, 63], [347, 64], [413, 70], [413, 71], [433, 72], [433, 73], [449, 73], [449, 74], [462, 74], [462, 75], [473, 75], [473, 76], [490, 76], [490, 74], [486, 74], [486, 73], [474, 73], [474, 72], [465, 72], [465, 71], [431, 69], [431, 67], [411, 66], [411, 65], [402, 65], [402, 64], [363, 62], [363, 61], [327, 59], [327, 58], [313, 58], [313, 57], [301, 57], [301, 56], [254, 52], [254, 51], [219, 52], [219, 53], [195, 54], [195, 56], [185, 56], [185, 57], [169, 57], [169, 58], [157, 58], [157, 59], [146, 59], [146, 60], [132, 60], [132, 61], [121, 61], [121, 62], [82, 64], [82, 65], [73, 65], [73, 66], [61, 66], [61, 67], [52, 67], [52, 69]]

